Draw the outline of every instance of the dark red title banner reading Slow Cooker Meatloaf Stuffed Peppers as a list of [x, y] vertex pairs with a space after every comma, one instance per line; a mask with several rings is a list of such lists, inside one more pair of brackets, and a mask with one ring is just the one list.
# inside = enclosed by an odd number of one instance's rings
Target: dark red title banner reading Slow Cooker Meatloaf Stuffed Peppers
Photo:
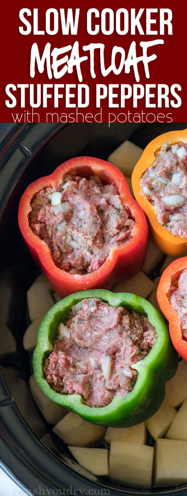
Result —
[[187, 6], [151, 4], [4, 3], [1, 121], [185, 122]]

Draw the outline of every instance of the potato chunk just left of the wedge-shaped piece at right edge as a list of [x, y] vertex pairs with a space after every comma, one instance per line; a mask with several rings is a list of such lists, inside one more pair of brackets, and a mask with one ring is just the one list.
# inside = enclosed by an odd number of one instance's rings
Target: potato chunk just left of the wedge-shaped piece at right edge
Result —
[[173, 408], [168, 401], [164, 399], [159, 410], [146, 421], [146, 427], [151, 436], [155, 440], [158, 437], [163, 437], [168, 431], [176, 415], [177, 411], [175, 408]]

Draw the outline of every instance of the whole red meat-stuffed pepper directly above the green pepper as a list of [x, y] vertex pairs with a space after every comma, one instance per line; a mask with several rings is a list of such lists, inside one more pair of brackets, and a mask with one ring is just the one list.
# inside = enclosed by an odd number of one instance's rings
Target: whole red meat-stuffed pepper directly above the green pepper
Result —
[[122, 173], [78, 157], [22, 195], [19, 227], [49, 283], [61, 296], [111, 287], [142, 267], [148, 225]]

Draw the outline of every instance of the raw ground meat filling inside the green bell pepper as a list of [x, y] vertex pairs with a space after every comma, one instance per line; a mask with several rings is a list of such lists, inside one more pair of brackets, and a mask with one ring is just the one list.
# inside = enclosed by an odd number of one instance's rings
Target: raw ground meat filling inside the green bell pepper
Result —
[[58, 327], [43, 369], [46, 380], [59, 393], [78, 393], [86, 405], [104, 407], [132, 391], [138, 372], [131, 366], [148, 355], [155, 339], [146, 316], [99, 298], [82, 300]]

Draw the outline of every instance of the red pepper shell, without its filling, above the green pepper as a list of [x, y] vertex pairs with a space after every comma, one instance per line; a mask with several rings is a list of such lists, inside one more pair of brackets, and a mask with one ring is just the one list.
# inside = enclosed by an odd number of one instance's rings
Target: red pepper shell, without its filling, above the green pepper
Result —
[[[44, 241], [41, 241], [33, 233], [28, 220], [33, 196], [42, 188], [56, 186], [65, 174], [71, 174], [73, 171], [83, 177], [94, 174], [106, 183], [113, 182], [121, 196], [123, 205], [130, 208], [131, 215], [135, 220], [132, 238], [127, 243], [112, 248], [109, 256], [98, 270], [76, 276], [76, 278], [73, 274], [69, 274], [55, 265], [50, 249]], [[93, 157], [76, 157], [61, 164], [50, 176], [37, 179], [27, 187], [21, 197], [18, 222], [31, 255], [37, 263], [39, 262], [51, 286], [62, 297], [83, 289], [110, 288], [120, 278], [128, 279], [135, 275], [145, 260], [148, 243], [148, 224], [145, 214], [136, 200], [132, 198], [123, 174], [105, 160]]]

